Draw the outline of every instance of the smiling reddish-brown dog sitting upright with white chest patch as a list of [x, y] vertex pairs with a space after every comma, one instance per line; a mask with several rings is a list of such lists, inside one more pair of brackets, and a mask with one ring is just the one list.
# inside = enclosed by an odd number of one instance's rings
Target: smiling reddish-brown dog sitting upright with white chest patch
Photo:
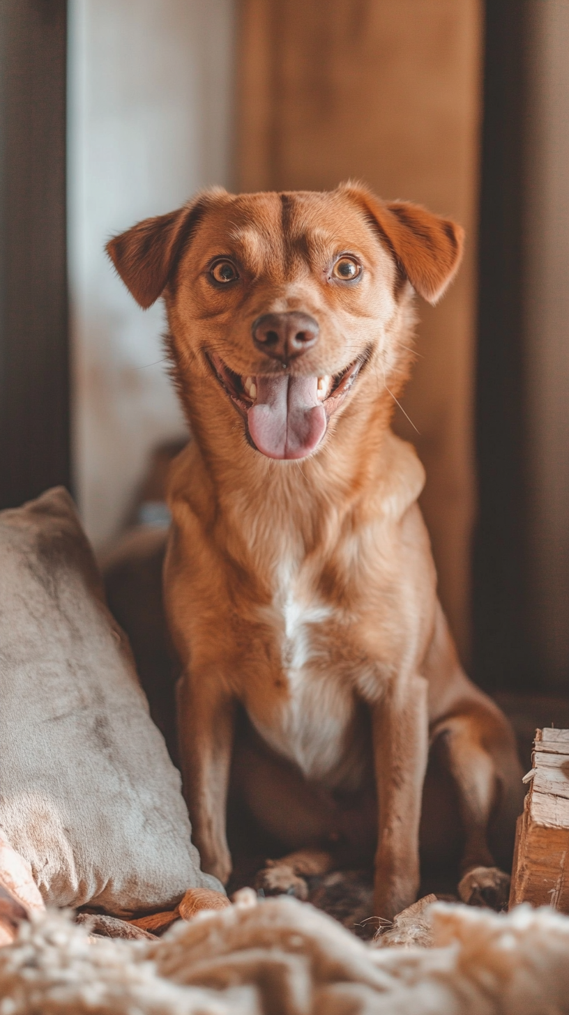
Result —
[[[195, 437], [172, 475], [165, 594], [184, 792], [224, 882], [233, 752], [249, 807], [297, 851], [265, 871], [269, 889], [370, 851], [375, 912], [391, 918], [416, 898], [421, 822], [447, 854], [461, 825], [463, 898], [505, 897], [488, 836], [511, 845], [514, 740], [457, 661], [423, 468], [390, 429], [414, 290], [435, 302], [461, 246], [453, 222], [351, 184], [213, 190], [108, 246], [142, 307], [165, 296]], [[430, 745], [460, 820], [424, 793]]]

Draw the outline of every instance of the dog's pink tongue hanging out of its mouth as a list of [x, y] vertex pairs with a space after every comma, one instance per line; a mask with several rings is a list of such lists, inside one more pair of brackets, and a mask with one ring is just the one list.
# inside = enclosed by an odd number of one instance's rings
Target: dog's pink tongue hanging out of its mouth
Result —
[[247, 413], [255, 447], [268, 458], [304, 458], [320, 444], [326, 412], [318, 401], [318, 378], [256, 379], [257, 401]]

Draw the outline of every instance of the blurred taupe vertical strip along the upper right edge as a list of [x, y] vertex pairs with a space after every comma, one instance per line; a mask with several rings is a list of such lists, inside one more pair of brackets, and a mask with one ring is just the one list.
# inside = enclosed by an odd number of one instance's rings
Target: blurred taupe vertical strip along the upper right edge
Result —
[[540, 678], [569, 676], [569, 3], [525, 0], [529, 589]]

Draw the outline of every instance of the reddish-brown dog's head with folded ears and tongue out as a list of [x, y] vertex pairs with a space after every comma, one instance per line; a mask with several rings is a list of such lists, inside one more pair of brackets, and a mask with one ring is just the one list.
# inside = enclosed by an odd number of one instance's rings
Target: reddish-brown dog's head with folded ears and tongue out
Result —
[[[197, 400], [271, 459], [321, 445], [366, 389], [397, 389], [409, 302], [442, 295], [462, 229], [344, 184], [231, 195], [208, 191], [108, 244], [141, 307], [164, 294], [177, 378], [194, 429]], [[369, 404], [373, 397], [368, 382]], [[215, 402], [213, 402], [215, 392]], [[242, 439], [242, 437], [241, 437]]]

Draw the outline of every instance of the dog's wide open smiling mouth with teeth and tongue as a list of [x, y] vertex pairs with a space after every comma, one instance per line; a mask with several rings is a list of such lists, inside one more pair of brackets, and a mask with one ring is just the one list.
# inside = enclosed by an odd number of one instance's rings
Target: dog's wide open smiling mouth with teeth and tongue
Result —
[[245, 419], [250, 443], [267, 458], [306, 458], [316, 450], [328, 419], [343, 401], [368, 356], [339, 374], [303, 377], [258, 374], [242, 377], [212, 353], [217, 381]]

